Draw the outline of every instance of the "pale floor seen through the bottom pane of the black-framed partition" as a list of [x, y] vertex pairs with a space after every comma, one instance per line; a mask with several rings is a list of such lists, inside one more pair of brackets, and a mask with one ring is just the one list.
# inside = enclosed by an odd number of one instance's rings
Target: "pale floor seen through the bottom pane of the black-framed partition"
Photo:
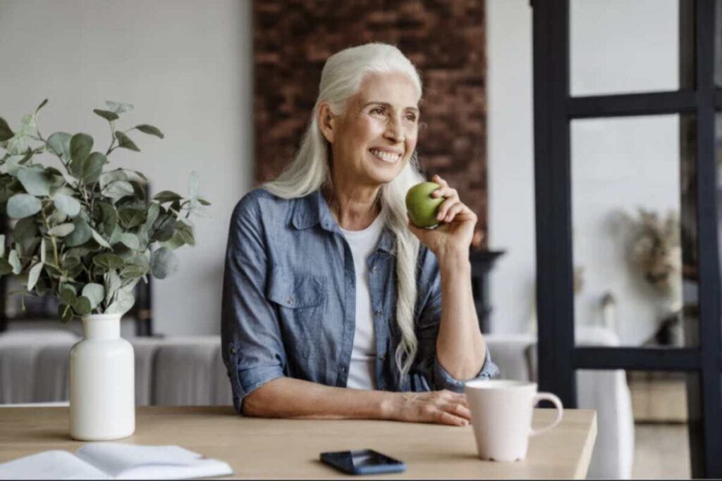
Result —
[[690, 479], [686, 424], [635, 424], [632, 477], [635, 480]]

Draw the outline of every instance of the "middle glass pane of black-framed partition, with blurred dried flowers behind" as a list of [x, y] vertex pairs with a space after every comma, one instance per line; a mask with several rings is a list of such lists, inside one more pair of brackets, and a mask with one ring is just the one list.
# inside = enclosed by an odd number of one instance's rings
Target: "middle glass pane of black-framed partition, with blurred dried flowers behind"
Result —
[[689, 116], [571, 123], [577, 345], [697, 345], [694, 138]]

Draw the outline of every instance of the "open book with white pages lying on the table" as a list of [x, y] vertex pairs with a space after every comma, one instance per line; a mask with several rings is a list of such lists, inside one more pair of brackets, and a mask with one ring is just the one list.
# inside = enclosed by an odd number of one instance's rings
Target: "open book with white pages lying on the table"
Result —
[[232, 475], [225, 462], [180, 446], [89, 443], [0, 464], [0, 480], [165, 480]]

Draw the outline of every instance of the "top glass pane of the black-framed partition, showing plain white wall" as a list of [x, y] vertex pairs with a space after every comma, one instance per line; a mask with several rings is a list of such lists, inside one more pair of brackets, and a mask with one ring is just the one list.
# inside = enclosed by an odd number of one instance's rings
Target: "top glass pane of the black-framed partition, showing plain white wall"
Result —
[[679, 89], [679, 6], [679, 0], [570, 0], [571, 94]]

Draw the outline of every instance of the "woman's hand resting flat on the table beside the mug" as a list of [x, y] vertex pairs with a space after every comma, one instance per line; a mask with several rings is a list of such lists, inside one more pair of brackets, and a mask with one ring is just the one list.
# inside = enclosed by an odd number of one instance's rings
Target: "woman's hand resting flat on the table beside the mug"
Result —
[[393, 392], [386, 418], [407, 423], [466, 426], [471, 420], [466, 395], [458, 392]]

